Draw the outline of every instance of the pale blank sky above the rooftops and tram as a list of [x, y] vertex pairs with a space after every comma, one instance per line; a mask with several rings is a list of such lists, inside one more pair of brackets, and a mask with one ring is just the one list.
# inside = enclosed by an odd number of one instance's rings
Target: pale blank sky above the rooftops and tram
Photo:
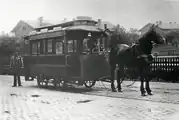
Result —
[[91, 16], [125, 28], [149, 22], [179, 23], [179, 0], [0, 0], [0, 31], [10, 32], [19, 20], [72, 20]]

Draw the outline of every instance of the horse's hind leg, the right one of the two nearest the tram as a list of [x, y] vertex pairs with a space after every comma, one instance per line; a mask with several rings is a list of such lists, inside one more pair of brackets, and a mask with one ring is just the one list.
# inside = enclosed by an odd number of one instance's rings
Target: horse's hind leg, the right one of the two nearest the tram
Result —
[[124, 67], [119, 66], [119, 69], [117, 70], [117, 89], [118, 89], [118, 92], [122, 92], [121, 81], [120, 80], [121, 80], [123, 71], [124, 71]]

